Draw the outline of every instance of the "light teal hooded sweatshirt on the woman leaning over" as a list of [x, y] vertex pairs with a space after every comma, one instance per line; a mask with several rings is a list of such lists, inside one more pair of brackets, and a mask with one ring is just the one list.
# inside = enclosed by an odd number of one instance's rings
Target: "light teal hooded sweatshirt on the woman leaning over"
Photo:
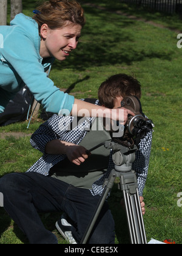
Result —
[[0, 113], [24, 85], [47, 112], [69, 115], [74, 97], [63, 93], [47, 74], [54, 58], [42, 59], [38, 24], [20, 13], [0, 26]]

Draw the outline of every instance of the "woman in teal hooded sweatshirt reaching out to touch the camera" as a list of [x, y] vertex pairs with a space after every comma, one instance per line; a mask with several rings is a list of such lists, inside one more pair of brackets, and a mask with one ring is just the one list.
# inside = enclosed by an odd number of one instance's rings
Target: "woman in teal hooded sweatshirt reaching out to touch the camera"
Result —
[[[85, 24], [84, 11], [75, 0], [50, 0], [33, 11], [33, 18], [20, 13], [11, 26], [0, 27], [0, 113], [26, 84], [47, 112], [74, 116], [111, 116], [126, 121], [119, 111], [79, 101], [63, 93], [47, 77], [57, 60], [65, 60], [76, 49]], [[83, 112], [83, 109], [86, 110]]]

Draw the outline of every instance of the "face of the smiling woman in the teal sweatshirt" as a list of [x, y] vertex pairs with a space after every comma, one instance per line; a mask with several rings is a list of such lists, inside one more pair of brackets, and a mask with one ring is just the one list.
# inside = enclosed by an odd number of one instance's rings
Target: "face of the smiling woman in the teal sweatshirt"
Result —
[[41, 27], [42, 58], [55, 57], [57, 60], [65, 60], [78, 44], [82, 27], [70, 21], [61, 29], [50, 29], [47, 24]]

